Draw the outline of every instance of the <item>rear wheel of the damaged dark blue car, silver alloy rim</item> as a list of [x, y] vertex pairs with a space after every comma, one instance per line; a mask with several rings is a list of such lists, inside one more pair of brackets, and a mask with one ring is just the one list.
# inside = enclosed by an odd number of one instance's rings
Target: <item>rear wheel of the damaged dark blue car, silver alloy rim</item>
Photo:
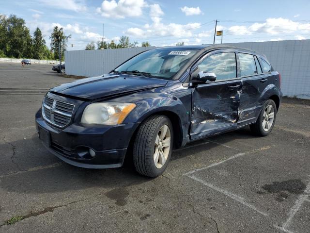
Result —
[[267, 100], [255, 124], [250, 125], [251, 131], [258, 136], [268, 135], [276, 122], [277, 106], [273, 100]]

